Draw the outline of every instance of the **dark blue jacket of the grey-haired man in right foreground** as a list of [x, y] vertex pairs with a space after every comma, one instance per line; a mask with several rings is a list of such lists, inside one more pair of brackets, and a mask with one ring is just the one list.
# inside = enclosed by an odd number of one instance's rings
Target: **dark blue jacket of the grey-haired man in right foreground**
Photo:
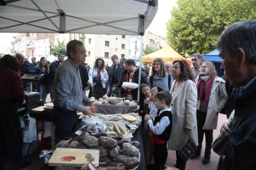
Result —
[[234, 129], [243, 111], [256, 94], [256, 76], [248, 83], [241, 95], [234, 100], [235, 114], [229, 127], [231, 132], [226, 134], [232, 142], [231, 169], [255, 169], [254, 160], [256, 152], [256, 107], [250, 111], [237, 129]]

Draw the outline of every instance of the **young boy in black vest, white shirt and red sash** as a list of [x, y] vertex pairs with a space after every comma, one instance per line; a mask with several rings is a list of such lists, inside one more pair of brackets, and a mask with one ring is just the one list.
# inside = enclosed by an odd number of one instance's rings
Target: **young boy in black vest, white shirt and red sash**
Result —
[[[168, 156], [167, 142], [171, 136], [173, 127], [173, 115], [171, 108], [171, 94], [168, 91], [158, 92], [155, 95], [155, 105], [157, 109], [161, 109], [158, 116], [155, 118], [150, 115], [145, 115], [150, 130], [152, 131], [152, 152], [156, 169], [164, 169], [164, 164]], [[152, 155], [153, 153], [153, 155]], [[150, 157], [151, 157], [150, 156]]]

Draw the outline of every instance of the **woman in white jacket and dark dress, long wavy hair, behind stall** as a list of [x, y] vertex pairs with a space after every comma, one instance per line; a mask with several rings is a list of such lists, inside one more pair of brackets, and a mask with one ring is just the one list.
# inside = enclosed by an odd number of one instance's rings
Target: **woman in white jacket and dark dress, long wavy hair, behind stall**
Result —
[[105, 95], [106, 82], [108, 81], [108, 72], [106, 71], [103, 59], [96, 59], [94, 66], [89, 71], [90, 92], [89, 98], [100, 99]]

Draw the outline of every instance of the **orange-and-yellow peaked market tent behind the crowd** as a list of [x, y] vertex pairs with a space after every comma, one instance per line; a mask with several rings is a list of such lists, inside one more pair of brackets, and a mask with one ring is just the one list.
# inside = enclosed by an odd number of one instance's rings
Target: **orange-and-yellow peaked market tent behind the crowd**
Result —
[[142, 62], [150, 62], [152, 63], [155, 58], [161, 58], [163, 59], [164, 63], [166, 62], [174, 62], [175, 60], [186, 60], [190, 67], [191, 67], [191, 60], [186, 59], [182, 57], [179, 53], [177, 53], [172, 47], [166, 46], [163, 49], [160, 49], [156, 52], [153, 52], [148, 55], [143, 55], [142, 56]]

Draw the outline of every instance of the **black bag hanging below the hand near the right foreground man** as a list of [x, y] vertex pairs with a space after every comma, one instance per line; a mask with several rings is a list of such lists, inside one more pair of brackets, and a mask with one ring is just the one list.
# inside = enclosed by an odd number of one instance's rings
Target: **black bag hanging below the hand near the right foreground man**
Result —
[[225, 155], [228, 150], [229, 142], [228, 137], [224, 139], [221, 137], [221, 134], [219, 134], [219, 136], [211, 143], [211, 147], [213, 147], [213, 151], [218, 155]]

